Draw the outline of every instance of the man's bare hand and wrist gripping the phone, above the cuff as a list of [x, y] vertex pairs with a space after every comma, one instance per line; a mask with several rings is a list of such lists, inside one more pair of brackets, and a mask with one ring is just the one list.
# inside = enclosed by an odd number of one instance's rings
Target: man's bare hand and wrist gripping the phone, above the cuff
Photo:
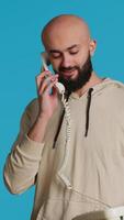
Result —
[[40, 112], [27, 133], [33, 141], [43, 142], [47, 123], [58, 103], [57, 89], [54, 87], [57, 81], [58, 76], [52, 75], [50, 72], [43, 72], [36, 77]]

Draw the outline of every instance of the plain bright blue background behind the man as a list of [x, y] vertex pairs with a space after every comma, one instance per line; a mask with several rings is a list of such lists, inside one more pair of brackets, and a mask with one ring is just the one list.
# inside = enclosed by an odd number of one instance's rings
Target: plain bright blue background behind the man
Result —
[[20, 196], [5, 189], [2, 170], [27, 102], [36, 96], [43, 51], [41, 31], [61, 13], [88, 22], [98, 42], [93, 66], [100, 76], [124, 81], [124, 0], [0, 0], [0, 219], [30, 219], [34, 188]]

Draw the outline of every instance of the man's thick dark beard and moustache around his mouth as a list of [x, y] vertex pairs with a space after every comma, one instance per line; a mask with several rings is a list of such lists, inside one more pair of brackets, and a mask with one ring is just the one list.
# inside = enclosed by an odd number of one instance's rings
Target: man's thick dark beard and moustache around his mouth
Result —
[[[65, 78], [63, 73], [71, 72], [71, 70], [77, 70], [78, 75], [76, 78]], [[58, 81], [61, 82], [68, 95], [70, 95], [72, 91], [76, 91], [80, 88], [82, 88], [90, 79], [92, 75], [92, 63], [91, 63], [91, 57], [90, 54], [83, 64], [83, 66], [80, 68], [79, 66], [74, 66], [74, 67], [63, 67], [60, 66], [58, 72], [54, 69], [55, 74], [58, 74]]]

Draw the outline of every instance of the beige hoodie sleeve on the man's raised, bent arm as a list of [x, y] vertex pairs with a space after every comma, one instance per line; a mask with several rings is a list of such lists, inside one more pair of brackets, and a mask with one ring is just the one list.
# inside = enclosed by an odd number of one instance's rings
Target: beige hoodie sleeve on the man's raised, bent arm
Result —
[[35, 116], [32, 116], [35, 109], [32, 111], [31, 106], [22, 117], [20, 133], [4, 165], [4, 182], [12, 194], [21, 194], [35, 184], [44, 147], [44, 143], [32, 141], [26, 135], [35, 120]]

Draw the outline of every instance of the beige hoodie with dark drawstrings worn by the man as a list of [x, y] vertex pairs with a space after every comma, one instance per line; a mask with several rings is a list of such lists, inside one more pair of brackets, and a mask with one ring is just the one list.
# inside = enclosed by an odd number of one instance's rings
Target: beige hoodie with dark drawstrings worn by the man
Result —
[[26, 135], [38, 112], [37, 100], [22, 117], [4, 179], [12, 194], [35, 184], [32, 220], [72, 220], [124, 205], [124, 85], [106, 78], [92, 88], [90, 98], [88, 92], [80, 98], [70, 95], [70, 141], [64, 117], [55, 148], [61, 102], [48, 123], [44, 143]]

